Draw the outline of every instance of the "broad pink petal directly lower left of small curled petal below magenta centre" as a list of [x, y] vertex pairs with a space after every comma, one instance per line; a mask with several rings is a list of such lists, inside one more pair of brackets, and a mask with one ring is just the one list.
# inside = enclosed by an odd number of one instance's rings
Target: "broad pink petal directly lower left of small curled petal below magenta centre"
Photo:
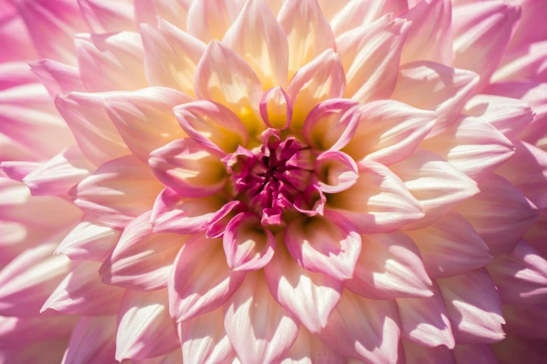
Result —
[[221, 239], [196, 234], [180, 249], [168, 280], [169, 311], [189, 321], [221, 307], [245, 279], [226, 264]]

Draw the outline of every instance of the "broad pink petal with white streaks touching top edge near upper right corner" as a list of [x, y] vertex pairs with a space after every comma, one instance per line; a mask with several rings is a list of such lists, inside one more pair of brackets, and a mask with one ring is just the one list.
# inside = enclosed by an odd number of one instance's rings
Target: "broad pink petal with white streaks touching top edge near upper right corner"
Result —
[[520, 6], [472, 3], [453, 11], [454, 66], [472, 70], [488, 84], [520, 20]]

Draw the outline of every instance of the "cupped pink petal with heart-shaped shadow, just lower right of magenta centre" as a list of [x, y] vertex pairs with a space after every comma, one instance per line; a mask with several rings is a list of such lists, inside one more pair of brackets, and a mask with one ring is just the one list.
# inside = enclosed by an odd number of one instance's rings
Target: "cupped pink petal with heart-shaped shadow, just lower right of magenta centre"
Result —
[[291, 220], [285, 232], [285, 245], [302, 268], [344, 280], [353, 275], [361, 238], [349, 220], [339, 213], [325, 211], [324, 216]]

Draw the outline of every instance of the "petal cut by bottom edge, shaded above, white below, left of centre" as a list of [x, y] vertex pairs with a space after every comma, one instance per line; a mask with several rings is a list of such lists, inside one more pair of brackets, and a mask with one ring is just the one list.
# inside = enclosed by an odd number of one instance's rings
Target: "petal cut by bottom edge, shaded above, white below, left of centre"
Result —
[[184, 364], [230, 363], [235, 355], [224, 330], [222, 308], [200, 314], [190, 321], [180, 322], [178, 333]]

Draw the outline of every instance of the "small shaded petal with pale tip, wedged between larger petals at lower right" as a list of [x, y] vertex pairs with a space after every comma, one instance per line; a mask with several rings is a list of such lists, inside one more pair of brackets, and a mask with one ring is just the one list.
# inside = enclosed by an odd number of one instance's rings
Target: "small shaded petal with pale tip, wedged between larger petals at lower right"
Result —
[[454, 347], [454, 337], [441, 291], [435, 283], [435, 293], [428, 298], [398, 298], [402, 337], [425, 347]]

